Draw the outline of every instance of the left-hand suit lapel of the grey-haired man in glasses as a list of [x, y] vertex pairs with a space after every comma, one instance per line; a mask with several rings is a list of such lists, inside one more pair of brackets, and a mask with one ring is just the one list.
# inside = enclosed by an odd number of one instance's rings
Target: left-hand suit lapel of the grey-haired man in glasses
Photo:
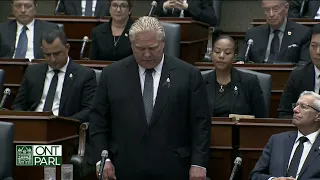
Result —
[[294, 142], [297, 138], [298, 132], [289, 133], [287, 138], [283, 140], [284, 151], [283, 151], [283, 174], [287, 174], [289, 159], [291, 155], [291, 151], [294, 145]]

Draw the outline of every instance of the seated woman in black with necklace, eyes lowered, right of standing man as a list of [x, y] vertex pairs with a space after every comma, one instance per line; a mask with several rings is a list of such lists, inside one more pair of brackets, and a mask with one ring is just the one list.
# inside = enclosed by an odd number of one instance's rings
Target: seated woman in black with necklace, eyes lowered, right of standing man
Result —
[[229, 36], [219, 37], [213, 45], [215, 70], [204, 76], [212, 116], [241, 114], [267, 117], [258, 77], [232, 67], [234, 51], [235, 43]]

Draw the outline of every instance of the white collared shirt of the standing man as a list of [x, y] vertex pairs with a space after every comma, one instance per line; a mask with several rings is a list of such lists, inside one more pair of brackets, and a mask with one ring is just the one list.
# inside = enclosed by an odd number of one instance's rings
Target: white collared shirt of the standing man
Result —
[[[162, 71], [162, 66], [163, 66], [163, 61], [164, 61], [164, 55], [162, 55], [162, 60], [160, 63], [154, 68], [154, 72], [152, 73], [153, 77], [153, 106], [156, 102], [156, 97], [157, 97], [157, 92], [158, 92], [158, 87], [159, 87], [159, 82], [160, 82], [160, 77], [161, 77], [161, 71]], [[139, 77], [140, 77], [140, 85], [141, 85], [141, 92], [143, 95], [143, 89], [144, 89], [144, 79], [146, 77], [146, 69], [139, 66]]]

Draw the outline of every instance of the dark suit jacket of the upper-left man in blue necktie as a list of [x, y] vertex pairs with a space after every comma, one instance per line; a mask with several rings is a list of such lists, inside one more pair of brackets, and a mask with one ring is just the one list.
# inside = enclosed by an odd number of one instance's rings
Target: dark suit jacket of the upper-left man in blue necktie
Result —
[[[41, 36], [44, 32], [59, 28], [57, 24], [35, 19], [34, 21], [34, 37], [33, 50], [35, 59], [44, 59], [41, 49]], [[8, 52], [5, 57], [12, 58], [16, 45], [17, 21], [9, 20], [0, 24], [0, 35], [2, 37], [2, 46], [6, 46]]]

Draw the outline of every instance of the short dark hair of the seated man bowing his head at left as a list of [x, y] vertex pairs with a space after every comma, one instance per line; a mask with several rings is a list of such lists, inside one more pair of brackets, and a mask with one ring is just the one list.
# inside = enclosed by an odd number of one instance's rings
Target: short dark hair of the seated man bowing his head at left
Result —
[[42, 40], [48, 44], [52, 44], [54, 40], [57, 38], [60, 39], [61, 43], [66, 46], [68, 44], [68, 39], [66, 34], [59, 28], [59, 29], [52, 29], [49, 31], [45, 31], [42, 34]]

